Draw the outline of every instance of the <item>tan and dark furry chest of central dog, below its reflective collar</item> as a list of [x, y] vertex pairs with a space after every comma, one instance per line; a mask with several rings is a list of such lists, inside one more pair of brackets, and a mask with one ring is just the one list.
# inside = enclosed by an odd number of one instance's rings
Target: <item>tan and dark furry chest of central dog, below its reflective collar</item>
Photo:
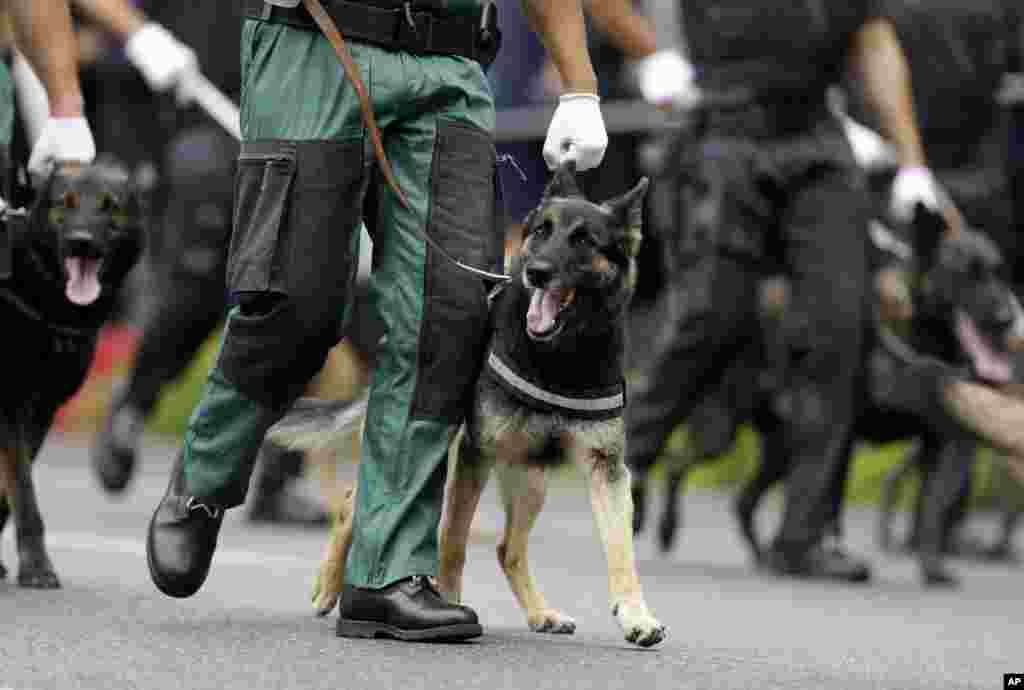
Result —
[[572, 449], [622, 458], [626, 448], [623, 417], [587, 420], [556, 412], [532, 409], [481, 378], [476, 387], [470, 437], [479, 452], [501, 460], [508, 450], [525, 454], [531, 465], [557, 465]]

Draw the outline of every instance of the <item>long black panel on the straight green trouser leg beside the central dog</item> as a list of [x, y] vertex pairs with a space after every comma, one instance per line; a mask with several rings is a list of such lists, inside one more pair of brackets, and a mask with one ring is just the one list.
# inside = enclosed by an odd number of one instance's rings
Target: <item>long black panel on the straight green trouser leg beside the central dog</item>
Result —
[[[438, 125], [427, 232], [453, 258], [490, 271], [501, 265], [504, 247], [495, 225], [496, 158], [489, 133]], [[486, 286], [428, 247], [424, 292], [412, 414], [458, 422], [483, 358]]]

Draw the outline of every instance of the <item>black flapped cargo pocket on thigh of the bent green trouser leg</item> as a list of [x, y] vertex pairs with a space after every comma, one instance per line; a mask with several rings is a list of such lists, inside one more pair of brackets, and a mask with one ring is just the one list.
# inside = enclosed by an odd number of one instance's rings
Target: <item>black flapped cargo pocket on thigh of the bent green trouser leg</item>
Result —
[[279, 246], [295, 169], [294, 142], [242, 144], [227, 254], [227, 288], [232, 293], [285, 292]]

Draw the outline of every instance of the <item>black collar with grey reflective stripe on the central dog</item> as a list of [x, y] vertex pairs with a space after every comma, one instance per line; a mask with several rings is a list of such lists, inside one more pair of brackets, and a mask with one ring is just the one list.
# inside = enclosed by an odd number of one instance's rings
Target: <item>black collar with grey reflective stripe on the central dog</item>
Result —
[[565, 395], [542, 388], [516, 374], [495, 350], [487, 356], [485, 371], [504, 390], [535, 409], [586, 419], [610, 419], [621, 416], [626, 407], [626, 387], [622, 382], [582, 395]]

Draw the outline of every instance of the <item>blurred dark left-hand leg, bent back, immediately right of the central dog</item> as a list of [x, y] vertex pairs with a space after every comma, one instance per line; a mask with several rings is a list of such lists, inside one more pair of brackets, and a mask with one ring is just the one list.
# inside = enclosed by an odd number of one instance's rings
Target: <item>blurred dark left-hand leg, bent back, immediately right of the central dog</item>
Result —
[[[770, 220], [758, 213], [763, 204], [749, 174], [749, 147], [711, 138], [701, 144], [705, 149], [717, 155], [694, 157], [685, 181], [687, 189], [696, 190], [690, 195], [693, 212], [674, 218], [674, 231], [688, 238], [691, 246], [659, 298], [681, 306], [664, 309], [668, 317], [654, 347], [648, 356], [637, 357], [639, 371], [630, 381], [627, 462], [637, 505], [644, 500], [647, 474], [670, 434], [720, 383], [745, 346], [750, 325], [758, 324], [761, 267], [751, 248]], [[672, 183], [684, 184], [683, 175]], [[726, 227], [735, 229], [731, 245], [718, 242]], [[753, 242], [740, 242], [743, 239]]]

